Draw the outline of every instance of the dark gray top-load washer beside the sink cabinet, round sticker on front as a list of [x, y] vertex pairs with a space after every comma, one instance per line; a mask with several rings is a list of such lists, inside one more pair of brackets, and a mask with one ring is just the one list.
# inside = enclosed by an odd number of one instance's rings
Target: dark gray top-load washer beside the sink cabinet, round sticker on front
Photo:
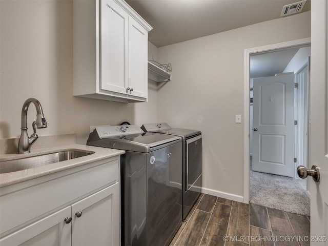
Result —
[[181, 225], [182, 138], [138, 126], [97, 127], [87, 145], [121, 155], [121, 245], [169, 245]]

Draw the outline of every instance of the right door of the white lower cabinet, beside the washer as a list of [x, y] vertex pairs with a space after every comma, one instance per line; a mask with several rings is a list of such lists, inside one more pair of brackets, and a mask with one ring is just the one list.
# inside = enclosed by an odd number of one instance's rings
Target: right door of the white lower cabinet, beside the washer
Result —
[[72, 245], [120, 245], [119, 183], [72, 204]]

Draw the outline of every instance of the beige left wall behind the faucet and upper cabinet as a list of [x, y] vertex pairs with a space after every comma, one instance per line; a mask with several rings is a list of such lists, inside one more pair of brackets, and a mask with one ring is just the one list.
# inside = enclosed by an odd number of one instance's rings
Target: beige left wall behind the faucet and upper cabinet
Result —
[[[75, 133], [79, 144], [86, 143], [90, 126], [157, 121], [157, 83], [152, 81], [148, 103], [72, 96], [71, 0], [2, 0], [0, 9], [0, 139], [19, 137], [20, 112], [29, 97], [40, 101], [48, 122], [48, 128], [37, 130], [39, 136]], [[31, 106], [29, 134], [35, 115]]]

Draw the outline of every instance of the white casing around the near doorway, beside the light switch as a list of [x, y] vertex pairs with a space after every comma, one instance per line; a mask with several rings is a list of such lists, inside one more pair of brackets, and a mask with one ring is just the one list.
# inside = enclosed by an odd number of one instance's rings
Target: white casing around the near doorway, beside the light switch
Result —
[[308, 45], [311, 45], [310, 37], [244, 50], [244, 203], [250, 201], [250, 57], [256, 53]]

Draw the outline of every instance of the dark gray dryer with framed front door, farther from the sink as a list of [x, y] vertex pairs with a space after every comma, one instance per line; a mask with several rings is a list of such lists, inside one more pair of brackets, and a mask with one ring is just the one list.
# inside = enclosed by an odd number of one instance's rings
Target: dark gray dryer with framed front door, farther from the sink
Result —
[[171, 128], [167, 123], [144, 124], [141, 129], [145, 132], [156, 132], [182, 137], [182, 219], [186, 219], [201, 194], [201, 132], [190, 129]]

